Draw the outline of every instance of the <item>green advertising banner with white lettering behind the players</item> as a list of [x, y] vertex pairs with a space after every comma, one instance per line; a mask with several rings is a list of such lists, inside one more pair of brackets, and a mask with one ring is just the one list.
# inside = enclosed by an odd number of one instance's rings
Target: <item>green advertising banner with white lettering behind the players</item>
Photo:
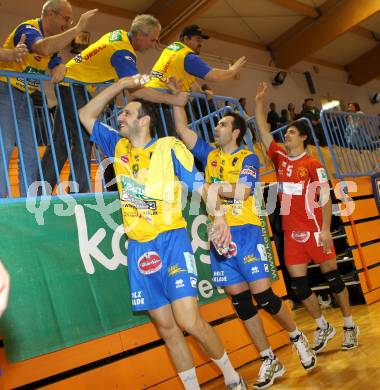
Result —
[[[195, 213], [191, 208], [188, 202], [184, 214], [204, 304], [224, 294], [210, 282], [207, 217], [199, 207]], [[0, 203], [0, 226], [0, 257], [11, 276], [9, 306], [1, 319], [9, 361], [149, 321], [131, 311], [128, 241], [115, 194]], [[266, 249], [273, 259], [270, 239]]]

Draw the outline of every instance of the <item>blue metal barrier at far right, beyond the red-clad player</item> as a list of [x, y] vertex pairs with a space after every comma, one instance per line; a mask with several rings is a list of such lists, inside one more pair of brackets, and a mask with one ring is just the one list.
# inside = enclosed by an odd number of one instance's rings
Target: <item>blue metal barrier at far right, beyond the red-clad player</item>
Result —
[[338, 178], [370, 176], [380, 169], [380, 117], [321, 111], [321, 123]]

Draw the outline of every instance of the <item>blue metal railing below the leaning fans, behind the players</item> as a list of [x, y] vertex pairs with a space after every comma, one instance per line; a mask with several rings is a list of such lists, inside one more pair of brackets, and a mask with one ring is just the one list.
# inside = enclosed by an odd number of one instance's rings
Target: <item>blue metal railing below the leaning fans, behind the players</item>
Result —
[[[11, 201], [17, 197], [15, 172], [18, 173], [21, 198], [107, 191], [102, 164], [107, 156], [100, 148], [91, 145], [78, 117], [78, 109], [91, 98], [88, 91], [90, 86], [76, 81], [73, 84], [72, 80], [67, 79], [64, 80], [67, 82], [65, 85], [55, 85], [57, 106], [52, 113], [47, 104], [43, 83], [50, 80], [50, 77], [1, 70], [0, 76], [7, 77], [7, 82], [0, 82], [0, 98], [4, 100], [3, 107], [5, 103], [8, 104], [6, 115], [2, 113], [0, 118], [0, 201]], [[12, 87], [11, 77], [21, 78], [25, 83], [33, 80], [34, 84], [39, 84], [38, 103], [33, 102], [29, 93]], [[96, 88], [101, 89], [107, 85], [109, 84], [99, 84]], [[100, 120], [117, 129], [117, 117], [126, 103], [126, 96], [121, 94], [108, 105]], [[158, 135], [175, 135], [172, 108], [161, 104], [157, 105], [157, 108], [160, 119]], [[258, 154], [264, 165], [261, 170], [263, 174], [273, 170], [265, 148], [260, 142], [254, 118], [247, 117], [237, 99], [213, 96], [208, 100], [204, 94], [192, 93], [186, 110], [190, 126], [208, 142], [213, 142], [215, 126], [227, 110], [239, 112], [247, 119], [245, 146]], [[302, 120], [308, 122], [317, 144], [311, 123], [307, 119]], [[273, 134], [282, 134], [285, 128], [286, 126], [279, 128]], [[18, 152], [18, 169], [14, 166], [15, 154], [12, 159], [12, 152], [15, 150]], [[323, 161], [322, 154], [319, 155]], [[13, 164], [11, 167], [10, 162]], [[68, 181], [63, 179], [66, 177], [62, 173], [65, 164], [69, 169]], [[97, 188], [93, 187], [94, 174], [91, 174], [91, 171], [94, 170], [100, 173], [97, 175]], [[65, 172], [67, 174], [67, 170]]]

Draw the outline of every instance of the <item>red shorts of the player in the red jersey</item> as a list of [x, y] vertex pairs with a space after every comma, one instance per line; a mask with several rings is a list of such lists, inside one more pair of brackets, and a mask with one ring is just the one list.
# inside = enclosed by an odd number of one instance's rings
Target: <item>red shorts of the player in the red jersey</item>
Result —
[[335, 259], [334, 245], [330, 253], [324, 253], [323, 247], [317, 245], [314, 232], [284, 231], [285, 265], [324, 263]]

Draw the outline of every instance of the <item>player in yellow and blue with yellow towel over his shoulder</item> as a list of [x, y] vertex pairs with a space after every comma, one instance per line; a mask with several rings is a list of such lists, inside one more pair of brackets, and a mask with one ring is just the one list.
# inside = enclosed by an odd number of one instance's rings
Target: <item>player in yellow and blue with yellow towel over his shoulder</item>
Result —
[[[218, 204], [210, 202], [212, 188], [199, 177], [193, 156], [182, 142], [174, 137], [157, 140], [152, 103], [142, 99], [128, 103], [118, 117], [119, 130], [98, 120], [107, 103], [124, 88], [134, 87], [135, 80], [139, 81], [127, 77], [119, 80], [79, 111], [91, 141], [114, 159], [123, 224], [129, 238], [132, 308], [148, 311], [185, 389], [199, 389], [199, 383], [182, 330], [193, 335], [218, 365], [228, 389], [247, 389], [197, 305], [197, 271], [182, 216], [180, 182], [200, 192], [214, 214]], [[156, 191], [154, 184], [162, 182], [166, 185], [158, 185]], [[213, 239], [228, 245], [230, 234], [224, 215], [214, 215]]]

